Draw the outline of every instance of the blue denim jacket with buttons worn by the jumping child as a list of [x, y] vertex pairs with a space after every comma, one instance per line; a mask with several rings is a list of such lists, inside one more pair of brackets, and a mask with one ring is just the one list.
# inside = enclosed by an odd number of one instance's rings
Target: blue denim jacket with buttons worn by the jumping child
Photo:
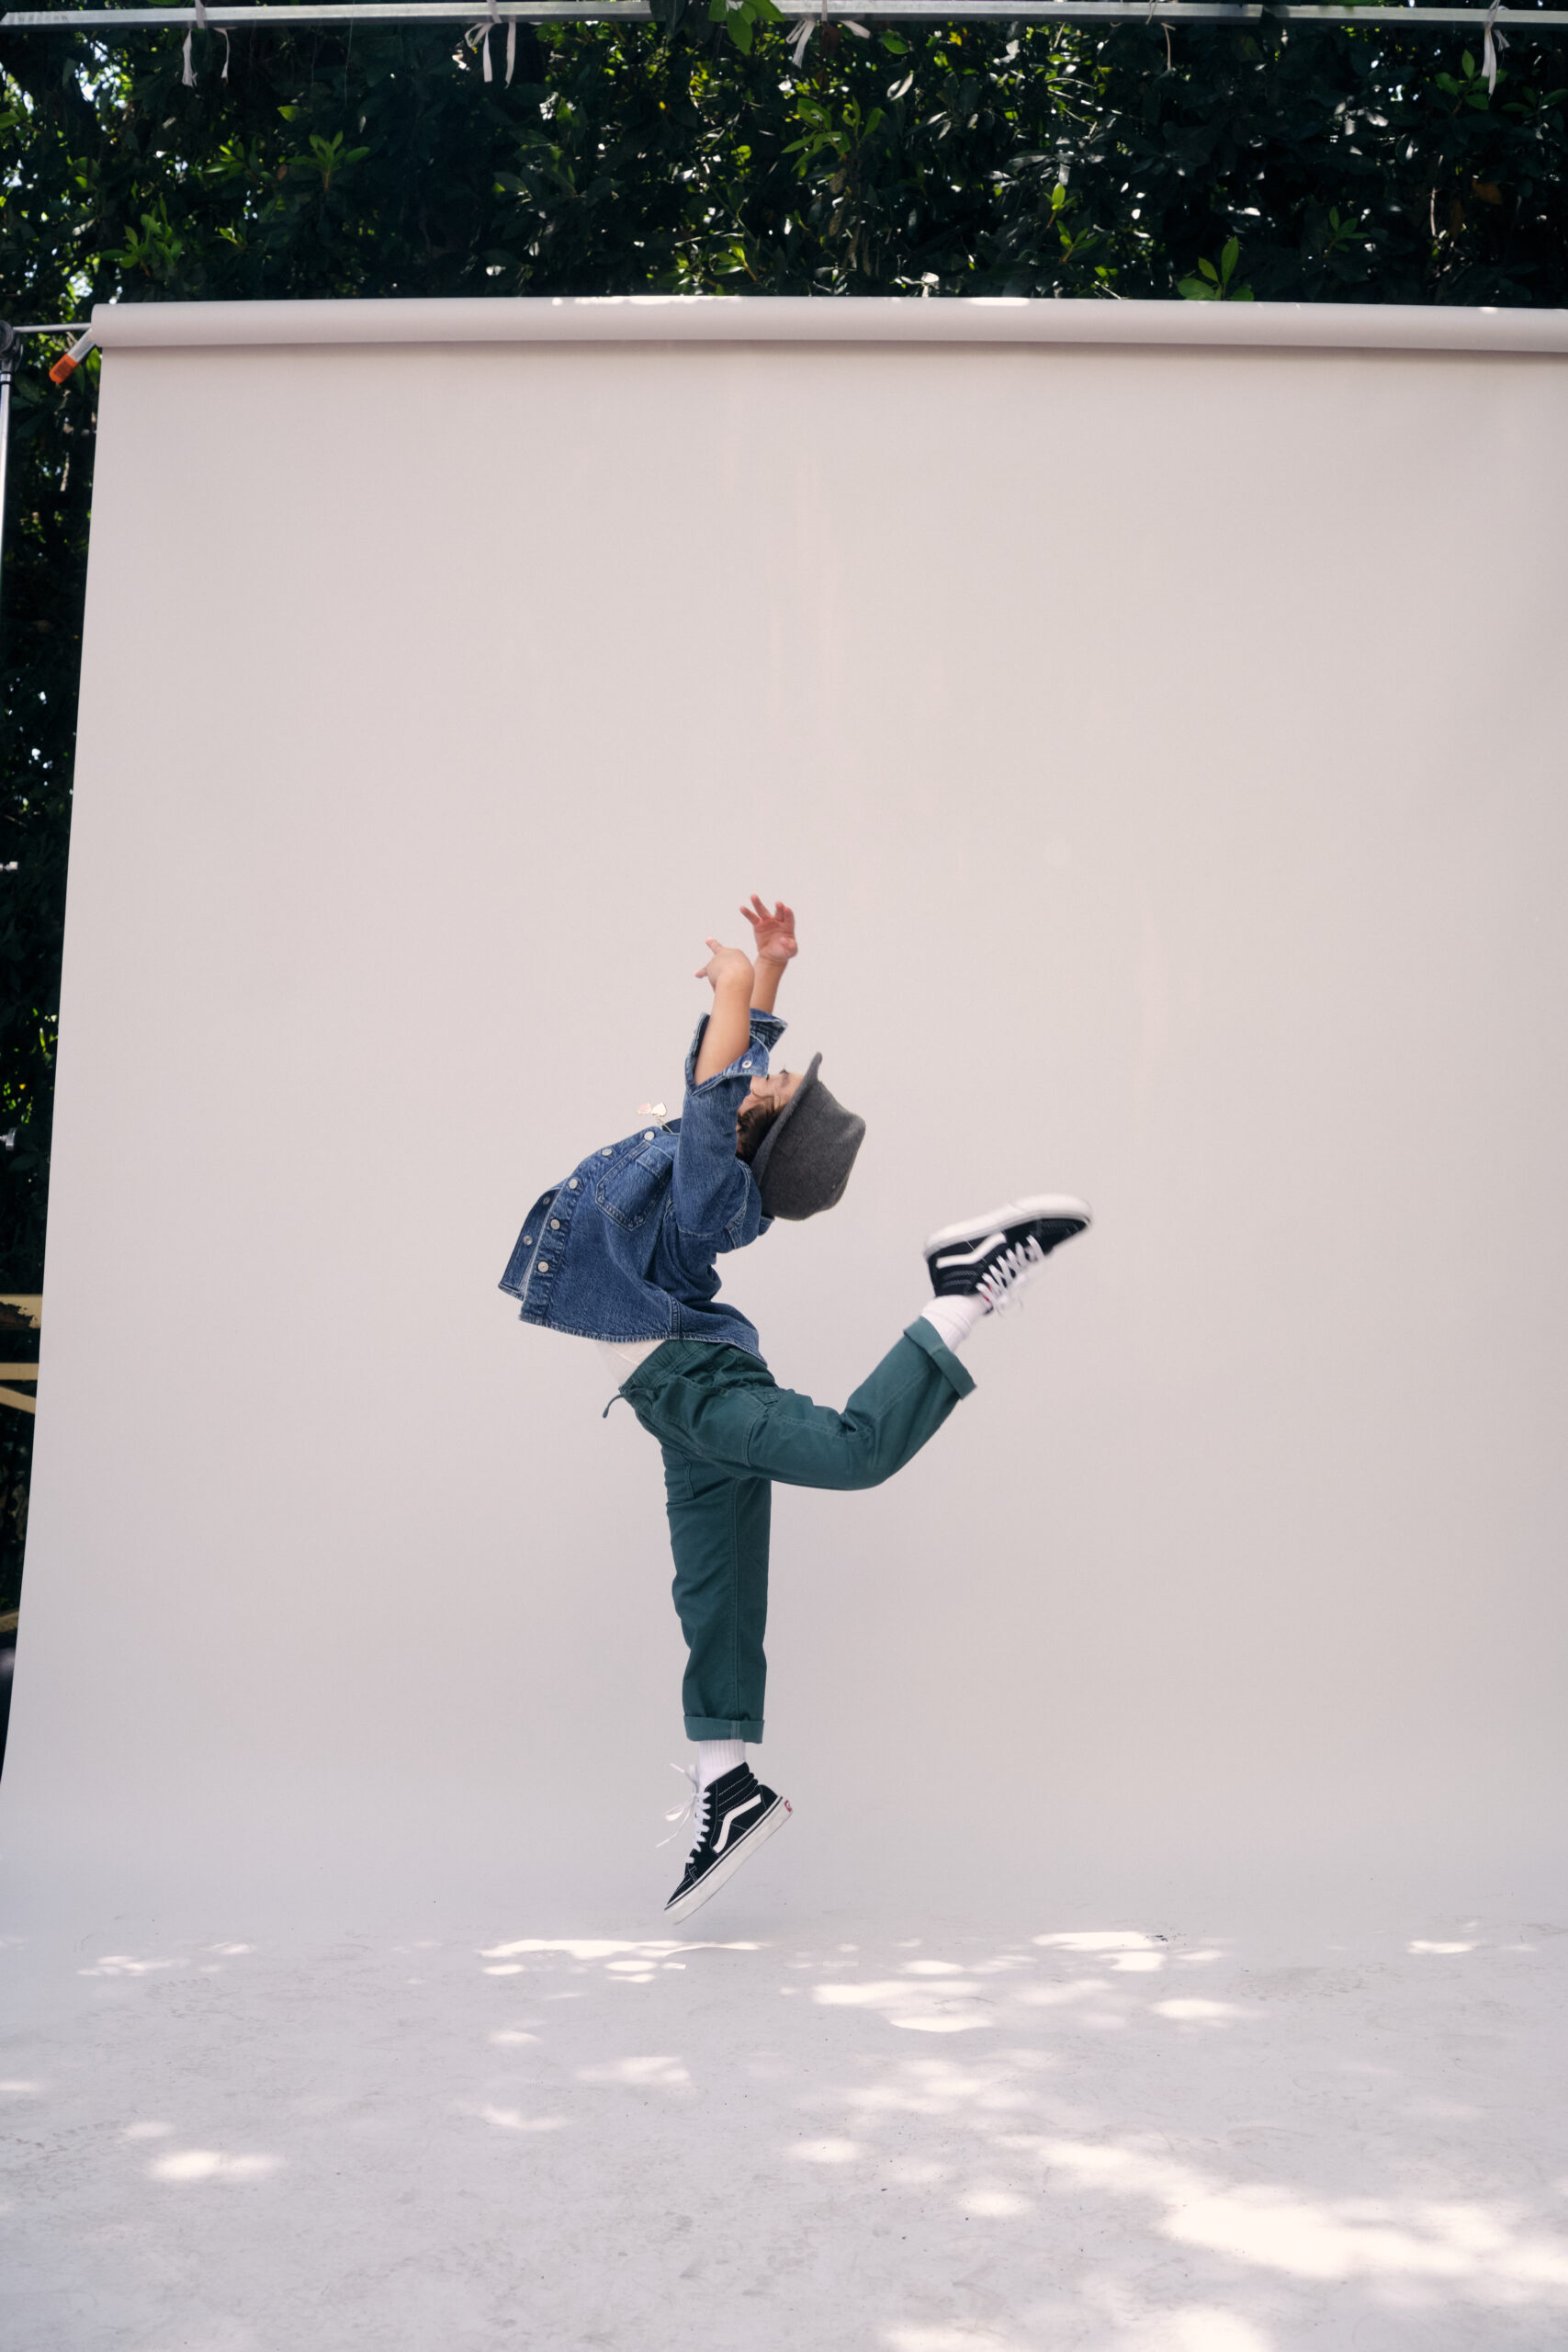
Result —
[[745, 1054], [693, 1082], [708, 1016], [686, 1054], [679, 1120], [604, 1143], [529, 1209], [501, 1289], [522, 1319], [576, 1338], [710, 1338], [762, 1355], [738, 1308], [715, 1301], [726, 1249], [766, 1232], [762, 1195], [736, 1157], [736, 1117], [785, 1033], [752, 1011]]

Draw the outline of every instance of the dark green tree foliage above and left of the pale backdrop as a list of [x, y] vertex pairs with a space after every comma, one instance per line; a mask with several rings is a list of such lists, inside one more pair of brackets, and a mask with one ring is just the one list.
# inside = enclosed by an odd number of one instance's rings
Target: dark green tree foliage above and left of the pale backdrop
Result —
[[[5, 33], [0, 313], [329, 294], [1563, 303], [1556, 28], [947, 24]], [[0, 1268], [42, 1258], [94, 369], [16, 395]], [[174, 626], [174, 616], [172, 616]]]

